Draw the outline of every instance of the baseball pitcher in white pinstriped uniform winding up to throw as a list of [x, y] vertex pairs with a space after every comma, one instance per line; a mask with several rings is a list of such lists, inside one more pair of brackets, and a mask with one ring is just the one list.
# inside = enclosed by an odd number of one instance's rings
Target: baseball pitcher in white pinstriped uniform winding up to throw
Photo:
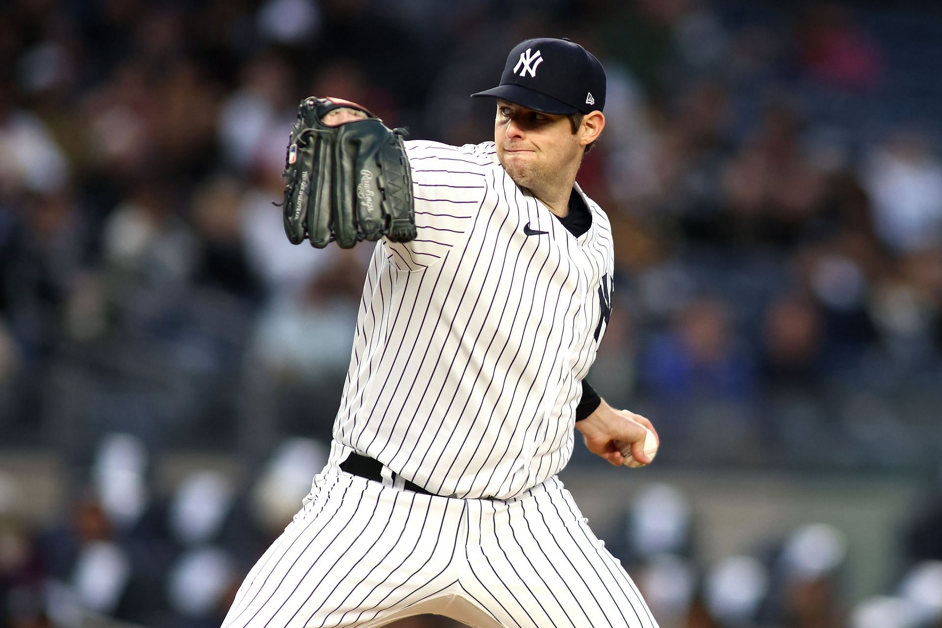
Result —
[[[224, 628], [657, 628], [556, 475], [574, 427], [612, 464], [651, 423], [585, 381], [612, 295], [609, 218], [576, 184], [606, 78], [570, 40], [508, 56], [494, 141], [405, 141], [308, 98], [291, 131], [291, 242], [375, 242], [330, 460]], [[648, 443], [645, 445], [645, 440]], [[647, 453], [645, 453], [645, 450]]]

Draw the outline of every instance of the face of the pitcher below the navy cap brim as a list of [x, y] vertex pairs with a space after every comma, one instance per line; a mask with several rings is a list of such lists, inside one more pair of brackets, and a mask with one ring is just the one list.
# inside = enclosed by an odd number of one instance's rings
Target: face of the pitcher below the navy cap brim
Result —
[[516, 185], [539, 191], [567, 176], [582, 156], [566, 116], [497, 101], [497, 158]]

